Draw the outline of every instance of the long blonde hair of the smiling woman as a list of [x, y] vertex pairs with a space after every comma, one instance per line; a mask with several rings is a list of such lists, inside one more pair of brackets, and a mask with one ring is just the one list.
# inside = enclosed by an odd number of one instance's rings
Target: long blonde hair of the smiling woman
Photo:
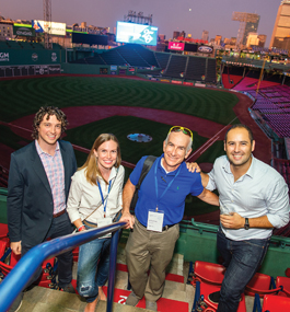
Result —
[[[121, 162], [120, 148], [119, 148], [118, 139], [112, 134], [100, 135], [96, 138], [96, 140], [94, 141], [93, 147], [89, 153], [89, 157], [88, 157], [85, 163], [79, 169], [79, 170], [85, 169], [84, 173], [85, 173], [86, 181], [89, 183], [91, 183], [92, 185], [93, 184], [96, 185], [97, 176], [102, 176], [102, 173], [101, 173], [98, 165], [97, 165], [97, 159], [94, 154], [94, 151], [97, 151], [98, 147], [102, 146], [106, 141], [114, 141], [117, 143], [117, 160], [116, 160], [116, 163], [114, 164], [114, 166], [118, 167], [120, 165], [120, 162]], [[103, 180], [108, 184], [108, 182], [104, 177], [103, 177]]]

